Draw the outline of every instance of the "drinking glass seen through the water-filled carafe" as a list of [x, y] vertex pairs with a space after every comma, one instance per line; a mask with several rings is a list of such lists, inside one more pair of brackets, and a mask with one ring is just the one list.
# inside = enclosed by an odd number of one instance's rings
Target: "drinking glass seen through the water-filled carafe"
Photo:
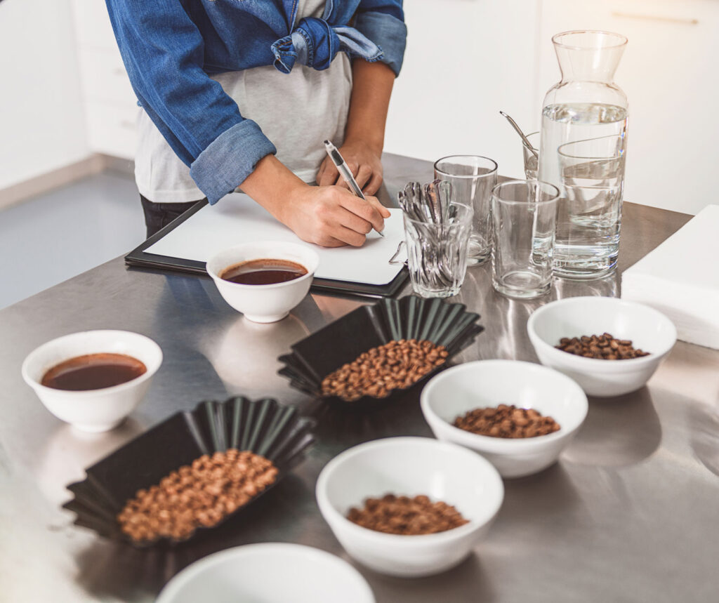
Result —
[[604, 277], [619, 255], [626, 139], [569, 142], [558, 153], [564, 198], [557, 216], [554, 269], [573, 278]]

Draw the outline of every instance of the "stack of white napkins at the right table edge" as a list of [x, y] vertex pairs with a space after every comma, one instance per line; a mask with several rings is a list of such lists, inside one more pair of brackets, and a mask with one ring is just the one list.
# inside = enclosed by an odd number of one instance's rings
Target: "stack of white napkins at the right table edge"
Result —
[[672, 319], [679, 339], [719, 349], [719, 206], [707, 206], [622, 275], [622, 298]]

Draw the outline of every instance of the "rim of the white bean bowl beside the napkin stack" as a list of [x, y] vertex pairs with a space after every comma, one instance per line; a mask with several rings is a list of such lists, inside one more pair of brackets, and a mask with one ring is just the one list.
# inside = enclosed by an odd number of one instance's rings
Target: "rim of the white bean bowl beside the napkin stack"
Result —
[[[592, 300], [592, 303], [603, 303], [606, 305], [630, 306], [633, 308], [638, 308], [641, 311], [652, 313], [658, 321], [661, 321], [665, 325], [669, 326], [669, 330], [673, 333], [673, 336], [671, 338], [672, 343], [668, 346], [664, 346], [664, 349], [650, 352], [649, 356], [640, 356], [639, 358], [627, 358], [621, 360], [620, 362], [608, 362], [600, 358], [585, 358], [585, 356], [569, 354], [569, 352], [557, 349], [551, 344], [548, 344], [546, 341], [544, 341], [544, 339], [539, 336], [539, 333], [536, 332], [534, 324], [539, 321], [540, 318], [551, 309], [557, 308], [559, 305], [576, 304], [580, 303], [580, 301], [586, 300]], [[544, 348], [544, 351], [546, 351], [546, 353], [552, 354], [560, 362], [562, 360], [567, 360], [567, 356], [569, 356], [571, 357], [571, 360], [569, 360], [568, 362], [584, 363], [587, 370], [589, 370], [591, 367], [603, 367], [603, 369], [605, 370], [614, 370], [616, 372], [632, 371], [634, 369], [637, 369], [638, 367], [641, 367], [644, 364], [652, 364], [653, 362], [656, 362], [657, 359], [663, 358], [674, 347], [674, 344], [677, 343], [677, 327], [671, 320], [669, 320], [666, 315], [659, 312], [659, 310], [651, 308], [651, 306], [645, 305], [643, 303], [623, 300], [621, 298], [607, 298], [603, 295], [583, 295], [576, 298], [564, 298], [563, 300], [554, 300], [552, 302], [549, 302], [541, 306], [541, 308], [537, 308], [533, 311], [533, 313], [531, 313], [531, 316], [529, 316], [529, 319], [527, 321], [527, 333], [529, 335], [529, 339], [531, 339], [534, 345], [541, 346], [542, 348]]]

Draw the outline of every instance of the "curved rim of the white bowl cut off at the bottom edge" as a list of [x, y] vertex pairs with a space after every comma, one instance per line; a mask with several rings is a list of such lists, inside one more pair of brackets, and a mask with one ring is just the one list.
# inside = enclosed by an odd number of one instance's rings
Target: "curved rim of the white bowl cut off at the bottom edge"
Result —
[[376, 600], [375, 594], [372, 592], [370, 585], [367, 584], [367, 580], [365, 580], [365, 577], [362, 576], [362, 574], [360, 574], [359, 571], [357, 571], [357, 569], [352, 566], [352, 564], [347, 563], [347, 561], [344, 561], [343, 558], [333, 555], [332, 553], [329, 553], [329, 551], [324, 551], [323, 549], [316, 548], [314, 546], [307, 546], [298, 543], [270, 542], [233, 546], [232, 548], [226, 548], [224, 551], [218, 551], [216, 553], [211, 553], [208, 556], [199, 558], [197, 561], [194, 561], [186, 568], [180, 570], [177, 574], [175, 574], [175, 576], [170, 579], [170, 581], [168, 581], [167, 584], [165, 584], [165, 586], [162, 587], [162, 591], [160, 591], [160, 594], [157, 596], [156, 603], [169, 602], [173, 597], [176, 597], [178, 594], [180, 594], [182, 589], [188, 584], [189, 581], [195, 578], [197, 574], [201, 574], [203, 571], [205, 571], [207, 567], [213, 566], [215, 563], [219, 563], [225, 558], [232, 558], [237, 556], [244, 557], [247, 555], [251, 555], [252, 553], [260, 549], [263, 549], [265, 551], [271, 551], [271, 549], [275, 549], [284, 553], [291, 550], [291, 554], [293, 555], [313, 555], [316, 559], [322, 558], [324, 559], [324, 561], [334, 563], [336, 566], [342, 566], [344, 569], [347, 569], [349, 571], [349, 574], [351, 576], [357, 578], [357, 584], [363, 584], [363, 586], [365, 587], [364, 594], [368, 597], [367, 600]]

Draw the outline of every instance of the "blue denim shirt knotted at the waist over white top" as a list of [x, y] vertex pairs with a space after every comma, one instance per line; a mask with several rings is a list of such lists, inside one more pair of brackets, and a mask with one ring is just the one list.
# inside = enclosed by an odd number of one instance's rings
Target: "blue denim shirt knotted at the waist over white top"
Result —
[[323, 70], [338, 52], [399, 73], [402, 0], [327, 0], [296, 22], [297, 0], [106, 0], [139, 104], [190, 167], [210, 203], [247, 178], [275, 145], [208, 74], [296, 63]]

